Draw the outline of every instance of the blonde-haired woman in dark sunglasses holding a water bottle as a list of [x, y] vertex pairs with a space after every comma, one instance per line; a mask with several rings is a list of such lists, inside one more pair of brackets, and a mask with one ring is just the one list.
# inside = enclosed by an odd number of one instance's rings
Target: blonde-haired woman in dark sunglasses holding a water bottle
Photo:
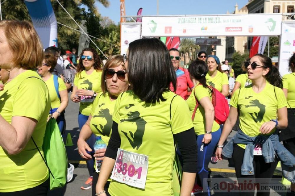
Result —
[[[112, 134], [112, 114], [114, 112], [116, 99], [120, 93], [127, 91], [128, 87], [129, 83], [127, 80], [127, 72], [124, 68], [123, 57], [121, 55], [110, 57], [102, 69], [102, 93], [98, 94], [94, 100], [89, 118], [82, 127], [79, 135], [78, 150], [83, 159], [92, 159], [91, 155], [86, 152], [91, 152], [93, 148], [93, 146], [89, 146], [86, 143], [86, 140], [92, 133], [96, 136], [101, 136], [101, 139], [108, 144]], [[105, 149], [97, 150], [94, 157], [97, 157], [99, 152], [105, 152]], [[96, 194], [95, 185], [98, 176], [99, 172], [96, 172], [96, 165], [94, 164], [93, 196]], [[109, 183], [110, 180], [106, 183], [104, 187], [105, 190], [108, 189]]]

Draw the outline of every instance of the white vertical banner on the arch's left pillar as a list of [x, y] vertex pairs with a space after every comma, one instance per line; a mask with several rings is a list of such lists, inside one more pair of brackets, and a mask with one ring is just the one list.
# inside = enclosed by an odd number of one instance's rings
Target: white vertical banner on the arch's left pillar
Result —
[[129, 44], [140, 39], [141, 24], [140, 23], [121, 23], [121, 55], [126, 54]]

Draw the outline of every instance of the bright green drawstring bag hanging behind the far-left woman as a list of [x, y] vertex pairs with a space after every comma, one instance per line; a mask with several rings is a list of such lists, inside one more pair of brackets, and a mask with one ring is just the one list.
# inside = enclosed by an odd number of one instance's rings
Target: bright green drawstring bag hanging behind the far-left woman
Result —
[[42, 149], [44, 157], [33, 137], [32, 140], [50, 174], [50, 190], [61, 188], [67, 181], [68, 157], [56, 120], [51, 117], [46, 124]]

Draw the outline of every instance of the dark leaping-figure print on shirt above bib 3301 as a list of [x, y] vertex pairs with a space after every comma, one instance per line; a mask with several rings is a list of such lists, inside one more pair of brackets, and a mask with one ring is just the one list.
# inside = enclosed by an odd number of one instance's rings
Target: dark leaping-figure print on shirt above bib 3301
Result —
[[120, 123], [125, 122], [125, 121], [131, 122], [131, 123], [135, 122], [135, 124], [137, 126], [137, 129], [134, 132], [134, 134], [131, 131], [129, 131], [131, 139], [130, 139], [130, 137], [128, 137], [127, 132], [124, 132], [124, 131], [121, 131], [121, 132], [127, 137], [132, 148], [135, 149], [135, 147], [136, 147], [136, 150], [138, 150], [142, 144], [143, 134], [145, 133], [145, 124], [147, 124], [147, 122], [142, 117], [140, 117], [140, 113], [138, 111], [129, 112], [127, 114], [127, 119], [121, 119]]

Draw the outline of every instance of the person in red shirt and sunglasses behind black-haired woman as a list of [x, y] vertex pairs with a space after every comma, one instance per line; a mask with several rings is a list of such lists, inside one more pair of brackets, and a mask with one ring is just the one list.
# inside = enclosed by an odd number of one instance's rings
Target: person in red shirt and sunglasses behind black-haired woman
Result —
[[[180, 52], [178, 49], [171, 48], [169, 50], [170, 58], [174, 67], [174, 70], [176, 72], [176, 91], [175, 93], [180, 95], [183, 99], [187, 99], [189, 97], [188, 94], [188, 89], [191, 90], [194, 88], [194, 83], [191, 81], [189, 78], [189, 72], [187, 69], [183, 69], [182, 67], [179, 67], [179, 62], [180, 62]], [[173, 85], [170, 85], [170, 89], [172, 92], [173, 90]]]

